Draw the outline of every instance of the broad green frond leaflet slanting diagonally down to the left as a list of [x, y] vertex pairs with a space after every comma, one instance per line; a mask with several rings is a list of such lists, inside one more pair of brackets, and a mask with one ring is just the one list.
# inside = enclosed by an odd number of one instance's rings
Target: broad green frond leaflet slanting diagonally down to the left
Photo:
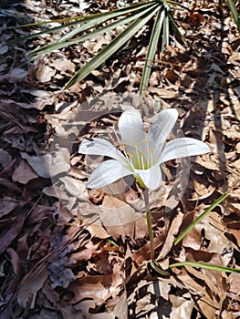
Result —
[[116, 36], [108, 46], [105, 46], [99, 51], [99, 53], [92, 57], [89, 62], [80, 68], [78, 72], [68, 81], [65, 88], [72, 87], [75, 83], [81, 81], [84, 77], [87, 77], [89, 73], [100, 66], [107, 58], [109, 58], [113, 53], [115, 53], [120, 46], [123, 46], [131, 36], [133, 36], [137, 31], [141, 29], [142, 26], [151, 19], [151, 17], [156, 13], [158, 5], [151, 5], [151, 8], [147, 8], [143, 11], [141, 17], [136, 19], [130, 24], [119, 36]]

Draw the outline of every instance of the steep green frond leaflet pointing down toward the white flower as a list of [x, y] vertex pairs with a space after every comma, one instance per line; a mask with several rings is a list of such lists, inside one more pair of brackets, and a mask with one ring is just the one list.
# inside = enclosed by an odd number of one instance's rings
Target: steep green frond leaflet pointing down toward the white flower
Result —
[[142, 94], [143, 90], [146, 89], [149, 83], [152, 61], [155, 56], [156, 48], [159, 42], [159, 36], [162, 30], [162, 23], [164, 19], [164, 10], [162, 10], [162, 8], [163, 6], [160, 8], [160, 11], [158, 12], [156, 16], [154, 25], [152, 27], [149, 48], [148, 48], [148, 52], [146, 56], [146, 61], [143, 67], [142, 76], [141, 76], [140, 94]]

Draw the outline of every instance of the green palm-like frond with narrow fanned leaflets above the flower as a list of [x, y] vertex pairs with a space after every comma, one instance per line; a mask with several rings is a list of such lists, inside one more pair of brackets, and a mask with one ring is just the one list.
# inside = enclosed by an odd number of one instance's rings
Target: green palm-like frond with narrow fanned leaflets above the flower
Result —
[[[66, 46], [72, 46], [78, 44], [79, 42], [102, 35], [105, 32], [116, 29], [118, 26], [124, 26], [125, 28], [119, 36], [113, 38], [109, 45], [103, 47], [99, 53], [96, 54], [96, 56], [92, 57], [74, 74], [74, 76], [66, 85], [66, 88], [69, 88], [78, 81], [81, 81], [87, 77], [91, 71], [99, 67], [104, 61], [117, 52], [121, 46], [126, 45], [132, 36], [141, 31], [143, 26], [146, 26], [151, 19], [153, 19], [154, 23], [151, 30], [151, 39], [149, 42], [146, 62], [141, 78], [140, 90], [142, 94], [143, 90], [148, 86], [152, 61], [154, 59], [160, 39], [162, 39], [162, 51], [164, 47], [168, 45], [170, 24], [172, 25], [172, 29], [182, 37], [183, 41], [185, 41], [183, 35], [174, 22], [170, 5], [178, 5], [183, 7], [183, 5], [179, 5], [172, 0], [151, 0], [96, 15], [79, 16], [71, 20], [62, 19], [51, 21], [51, 23], [57, 22], [62, 23], [62, 25], [48, 28], [47, 30], [40, 31], [34, 35], [25, 36], [22, 38], [22, 40], [30, 39], [35, 36], [41, 36], [43, 34], [53, 33], [69, 27], [73, 29], [67, 32], [66, 35], [61, 36], [57, 42], [37, 48], [30, 52], [27, 61], [34, 60], [37, 57], [50, 53], [54, 50], [61, 49]], [[43, 24], [44, 23], [41, 22], [35, 25], [37, 26]], [[34, 25], [32, 24], [31, 26]]]

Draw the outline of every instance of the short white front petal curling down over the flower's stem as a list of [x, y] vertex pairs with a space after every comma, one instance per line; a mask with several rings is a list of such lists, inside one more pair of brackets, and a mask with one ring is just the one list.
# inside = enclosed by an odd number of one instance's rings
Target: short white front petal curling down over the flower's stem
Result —
[[154, 165], [149, 170], [135, 170], [141, 177], [144, 185], [150, 190], [156, 190], [162, 180], [162, 172], [159, 165]]

